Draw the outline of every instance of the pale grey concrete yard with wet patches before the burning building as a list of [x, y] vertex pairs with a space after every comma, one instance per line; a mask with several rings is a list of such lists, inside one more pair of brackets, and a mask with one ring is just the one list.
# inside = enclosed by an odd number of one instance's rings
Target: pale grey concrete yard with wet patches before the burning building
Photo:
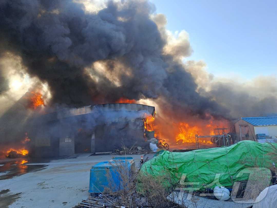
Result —
[[[24, 164], [20, 164], [22, 159], [0, 161], [0, 207], [71, 208], [78, 205], [89, 196], [91, 166], [117, 156], [89, 155], [73, 154], [67, 159]], [[134, 158], [136, 166], [140, 165], [141, 155], [129, 156]], [[147, 156], [151, 159], [153, 154]]]

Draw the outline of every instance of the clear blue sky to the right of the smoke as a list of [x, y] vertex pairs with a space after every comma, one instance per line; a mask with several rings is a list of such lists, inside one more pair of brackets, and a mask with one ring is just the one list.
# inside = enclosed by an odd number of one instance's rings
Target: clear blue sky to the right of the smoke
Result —
[[188, 32], [194, 50], [216, 76], [277, 74], [277, 1], [151, 0], [167, 29]]

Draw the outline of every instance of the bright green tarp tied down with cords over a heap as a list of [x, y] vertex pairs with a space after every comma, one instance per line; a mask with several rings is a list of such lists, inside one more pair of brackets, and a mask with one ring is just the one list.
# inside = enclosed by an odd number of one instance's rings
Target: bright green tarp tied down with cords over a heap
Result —
[[182, 178], [184, 184], [198, 184], [199, 190], [219, 184], [231, 187], [235, 181], [248, 179], [247, 168], [258, 166], [269, 171], [267, 168], [272, 162], [277, 162], [268, 155], [275, 151], [272, 145], [277, 148], [277, 144], [245, 140], [226, 147], [184, 153], [165, 151], [144, 163], [141, 173], [159, 177], [169, 172], [174, 182]]

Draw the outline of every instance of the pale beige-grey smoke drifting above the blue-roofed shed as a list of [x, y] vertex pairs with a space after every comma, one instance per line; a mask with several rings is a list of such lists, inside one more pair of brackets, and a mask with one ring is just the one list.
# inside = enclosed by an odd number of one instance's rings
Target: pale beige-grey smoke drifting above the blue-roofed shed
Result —
[[[276, 76], [258, 76], [252, 80], [243, 77], [215, 78], [205, 69], [203, 61], [187, 61], [184, 67], [198, 85], [197, 91], [220, 106], [230, 119], [248, 116], [275, 116], [277, 113]], [[240, 81], [238, 81], [240, 80]]]

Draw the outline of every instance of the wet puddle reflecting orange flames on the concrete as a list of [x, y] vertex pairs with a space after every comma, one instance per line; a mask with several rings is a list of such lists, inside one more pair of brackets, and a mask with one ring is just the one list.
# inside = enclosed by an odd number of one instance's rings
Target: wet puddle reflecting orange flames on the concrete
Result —
[[27, 159], [18, 159], [2, 162], [0, 166], [0, 180], [10, 179], [15, 176], [21, 176], [25, 173], [40, 171], [47, 165], [27, 165]]

